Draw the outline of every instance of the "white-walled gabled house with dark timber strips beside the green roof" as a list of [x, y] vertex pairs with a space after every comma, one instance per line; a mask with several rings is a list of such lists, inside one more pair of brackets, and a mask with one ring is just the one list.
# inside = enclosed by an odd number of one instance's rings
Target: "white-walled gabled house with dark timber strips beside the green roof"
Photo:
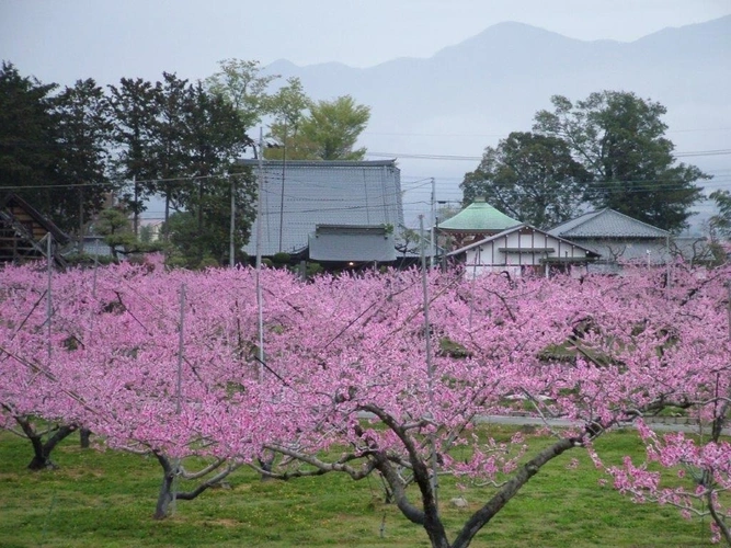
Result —
[[448, 254], [465, 265], [465, 275], [506, 273], [511, 278], [549, 276], [551, 272], [585, 274], [599, 254], [530, 225], [518, 225]]

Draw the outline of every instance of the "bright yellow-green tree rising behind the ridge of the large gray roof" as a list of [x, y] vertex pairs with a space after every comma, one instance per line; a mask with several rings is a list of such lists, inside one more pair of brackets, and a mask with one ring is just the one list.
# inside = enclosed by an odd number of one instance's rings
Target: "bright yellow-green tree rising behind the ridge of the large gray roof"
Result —
[[309, 111], [293, 139], [294, 155], [318, 160], [363, 160], [366, 149], [354, 147], [370, 119], [369, 106], [343, 95], [317, 101]]

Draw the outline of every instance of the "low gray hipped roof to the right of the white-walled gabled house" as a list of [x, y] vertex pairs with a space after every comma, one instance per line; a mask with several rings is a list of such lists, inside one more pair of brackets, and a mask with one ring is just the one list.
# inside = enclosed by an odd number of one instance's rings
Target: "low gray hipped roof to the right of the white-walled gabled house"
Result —
[[590, 212], [548, 231], [562, 238], [666, 238], [670, 232], [614, 209]]

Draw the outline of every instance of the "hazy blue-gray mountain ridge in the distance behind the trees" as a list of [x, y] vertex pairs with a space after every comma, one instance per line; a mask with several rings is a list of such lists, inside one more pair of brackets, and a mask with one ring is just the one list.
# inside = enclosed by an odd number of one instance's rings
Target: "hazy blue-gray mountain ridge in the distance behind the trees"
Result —
[[[631, 43], [584, 42], [522, 23], [501, 23], [430, 58], [369, 68], [341, 64], [267, 67], [297, 76], [316, 99], [351, 94], [372, 106], [363, 145], [370, 152], [480, 157], [512, 130], [528, 130], [553, 94], [583, 99], [604, 89], [664, 104], [678, 151], [731, 149], [731, 16], [665, 28]], [[437, 199], [458, 199], [477, 160], [399, 156], [404, 190], [434, 176]], [[731, 156], [683, 158], [731, 189]], [[413, 185], [412, 185], [413, 186]], [[423, 191], [423, 192], [422, 192]], [[410, 191], [407, 209], [426, 212], [429, 189]], [[411, 204], [411, 206], [409, 205]]]

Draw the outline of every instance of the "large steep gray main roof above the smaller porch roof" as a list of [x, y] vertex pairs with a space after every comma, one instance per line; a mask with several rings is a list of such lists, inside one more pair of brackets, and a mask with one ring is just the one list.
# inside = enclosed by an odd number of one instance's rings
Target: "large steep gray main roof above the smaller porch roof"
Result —
[[[240, 163], [258, 171], [256, 160]], [[262, 193], [262, 254], [292, 253], [308, 244], [317, 225], [377, 226], [403, 224], [401, 174], [395, 160], [265, 161]], [[284, 173], [284, 208], [282, 190]], [[244, 247], [256, 252], [256, 224]]]

